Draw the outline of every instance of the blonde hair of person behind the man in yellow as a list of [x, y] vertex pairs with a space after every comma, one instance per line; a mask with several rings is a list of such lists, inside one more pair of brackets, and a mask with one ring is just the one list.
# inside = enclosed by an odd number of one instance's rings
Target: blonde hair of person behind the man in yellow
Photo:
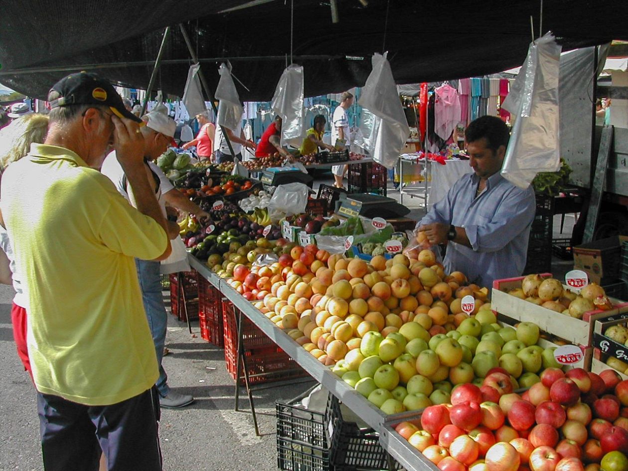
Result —
[[0, 129], [0, 172], [28, 154], [32, 143], [41, 144], [48, 134], [48, 115], [29, 114]]

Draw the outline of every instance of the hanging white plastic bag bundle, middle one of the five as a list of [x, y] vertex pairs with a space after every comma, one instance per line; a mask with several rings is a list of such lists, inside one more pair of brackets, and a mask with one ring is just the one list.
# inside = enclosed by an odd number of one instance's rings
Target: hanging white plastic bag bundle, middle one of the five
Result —
[[281, 116], [281, 145], [299, 147], [305, 138], [303, 109], [303, 67], [291, 64], [283, 71], [271, 107]]

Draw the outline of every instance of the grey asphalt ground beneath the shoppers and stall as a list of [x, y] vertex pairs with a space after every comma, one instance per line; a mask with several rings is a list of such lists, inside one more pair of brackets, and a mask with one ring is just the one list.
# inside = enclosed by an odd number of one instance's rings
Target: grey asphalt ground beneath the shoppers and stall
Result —
[[[35, 389], [15, 352], [11, 331], [13, 290], [0, 285], [0, 471], [43, 470]], [[168, 316], [163, 360], [170, 386], [193, 394], [194, 404], [162, 409], [161, 450], [165, 471], [266, 471], [277, 469], [274, 403], [298, 396], [313, 383], [254, 391], [261, 436], [253, 428], [246, 391], [234, 411], [235, 382], [225, 369], [224, 352], [205, 342], [193, 323]], [[244, 398], [242, 398], [244, 396]]]

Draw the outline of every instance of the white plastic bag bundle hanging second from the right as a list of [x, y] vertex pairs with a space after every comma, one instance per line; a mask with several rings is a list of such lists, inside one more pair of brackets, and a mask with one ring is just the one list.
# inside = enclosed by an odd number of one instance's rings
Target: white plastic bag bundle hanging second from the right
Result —
[[373, 70], [362, 89], [359, 104], [369, 110], [374, 118], [365, 120], [364, 127], [360, 127], [373, 160], [386, 168], [394, 168], [410, 135], [410, 128], [386, 55], [373, 55]]

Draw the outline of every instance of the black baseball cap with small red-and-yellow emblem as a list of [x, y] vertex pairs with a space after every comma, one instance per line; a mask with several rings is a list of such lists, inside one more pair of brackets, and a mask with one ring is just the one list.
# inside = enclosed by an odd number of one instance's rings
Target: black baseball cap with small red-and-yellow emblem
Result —
[[[122, 98], [106, 78], [91, 72], [71, 73], [59, 80], [51, 89], [61, 96], [50, 102], [50, 108], [68, 105], [108, 106], [117, 117], [126, 117], [142, 122], [138, 116], [127, 111]], [[49, 92], [49, 93], [50, 93]]]

